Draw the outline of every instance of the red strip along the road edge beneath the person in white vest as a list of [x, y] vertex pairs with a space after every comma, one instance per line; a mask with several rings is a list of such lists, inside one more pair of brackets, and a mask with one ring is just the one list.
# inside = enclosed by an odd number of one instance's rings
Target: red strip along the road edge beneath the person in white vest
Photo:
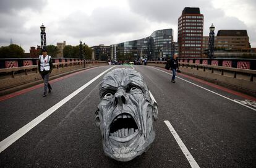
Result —
[[[49, 81], [49, 83], [55, 83], [55, 82], [58, 82], [59, 80], [63, 80], [65, 78], [69, 78], [69, 77], [72, 77], [72, 76], [77, 75], [79, 73], [85, 72], [87, 70], [92, 70], [92, 69], [95, 69], [95, 68], [96, 67], [85, 69], [85, 70], [81, 70], [81, 71], [75, 72], [75, 73], [71, 73], [71, 74], [66, 75], [64, 77], [59, 77], [59, 78], [56, 78], [54, 80], [51, 80], [51, 81]], [[20, 91], [16, 91], [16, 92], [11, 93], [11, 94], [7, 94], [7, 95], [4, 95], [4, 96], [1, 96], [0, 97], [0, 101], [4, 101], [4, 100], [9, 99], [9, 98], [14, 98], [15, 96], [19, 96], [20, 94], [27, 93], [28, 91], [32, 91], [32, 90], [35, 90], [35, 89], [41, 88], [41, 87], [43, 87], [43, 83], [35, 85], [35, 86], [32, 86], [30, 88], [26, 88], [26, 89], [20, 90]]]

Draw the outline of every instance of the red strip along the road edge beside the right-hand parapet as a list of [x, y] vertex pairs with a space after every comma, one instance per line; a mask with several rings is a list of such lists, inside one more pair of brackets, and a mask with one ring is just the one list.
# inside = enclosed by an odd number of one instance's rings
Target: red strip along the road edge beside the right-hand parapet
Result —
[[[161, 68], [161, 67], [160, 67], [160, 68]], [[164, 68], [161, 68], [161, 69], [164, 69]], [[166, 72], [169, 72], [169, 70], [166, 70], [166, 69], [164, 69], [164, 70], [165, 70]], [[217, 89], [219, 89], [219, 90], [226, 91], [226, 92], [231, 93], [231, 94], [234, 94], [234, 95], [236, 95], [236, 96], [241, 96], [242, 98], [250, 99], [250, 100], [252, 100], [252, 101], [256, 101], [256, 98], [254, 98], [253, 96], [249, 96], [249, 95], [247, 95], [247, 94], [240, 93], [240, 92], [238, 92], [238, 91], [230, 90], [230, 89], [228, 89], [228, 88], [224, 88], [223, 86], [219, 86], [219, 85], [216, 85], [216, 84], [214, 84], [214, 83], [206, 82], [206, 81], [204, 81], [204, 80], [201, 80], [201, 79], [198, 79], [198, 78], [195, 78], [195, 77], [190, 77], [189, 75], [185, 75], [185, 74], [183, 74], [183, 73], [177, 73], [177, 74], [181, 75], [182, 77], [190, 78], [190, 79], [195, 80], [195, 81], [197, 81], [197, 82], [200, 82], [200, 83], [203, 83], [203, 84], [205, 84], [205, 85], [211, 86], [211, 87], [213, 87], [213, 88], [217, 88]]]

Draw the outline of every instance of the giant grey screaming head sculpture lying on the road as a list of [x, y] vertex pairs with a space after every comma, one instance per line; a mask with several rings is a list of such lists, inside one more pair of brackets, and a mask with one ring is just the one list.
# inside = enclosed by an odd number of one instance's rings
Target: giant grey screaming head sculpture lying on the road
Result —
[[96, 111], [105, 154], [130, 161], [147, 151], [155, 139], [153, 120], [158, 108], [142, 75], [134, 69], [114, 69], [100, 85]]

